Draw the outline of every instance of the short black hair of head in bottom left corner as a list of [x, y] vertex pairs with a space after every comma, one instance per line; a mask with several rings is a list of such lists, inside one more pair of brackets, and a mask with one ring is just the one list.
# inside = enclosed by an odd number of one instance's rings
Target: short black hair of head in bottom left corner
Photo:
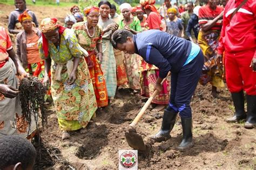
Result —
[[28, 139], [18, 135], [6, 135], [0, 138], [0, 169], [21, 162], [22, 169], [32, 166], [36, 159], [36, 149]]

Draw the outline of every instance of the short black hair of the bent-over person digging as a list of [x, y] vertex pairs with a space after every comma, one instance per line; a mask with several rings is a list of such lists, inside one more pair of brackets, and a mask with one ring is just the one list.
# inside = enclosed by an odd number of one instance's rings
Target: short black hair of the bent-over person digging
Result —
[[127, 41], [127, 37], [132, 38], [133, 34], [130, 31], [121, 29], [114, 31], [113, 35], [111, 36], [110, 42], [112, 46], [117, 49], [117, 44], [124, 44]]

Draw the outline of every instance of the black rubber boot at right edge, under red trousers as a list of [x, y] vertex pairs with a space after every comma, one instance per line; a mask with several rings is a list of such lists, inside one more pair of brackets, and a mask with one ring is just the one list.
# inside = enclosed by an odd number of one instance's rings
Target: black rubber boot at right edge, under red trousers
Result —
[[256, 95], [247, 95], [247, 118], [245, 128], [256, 127]]

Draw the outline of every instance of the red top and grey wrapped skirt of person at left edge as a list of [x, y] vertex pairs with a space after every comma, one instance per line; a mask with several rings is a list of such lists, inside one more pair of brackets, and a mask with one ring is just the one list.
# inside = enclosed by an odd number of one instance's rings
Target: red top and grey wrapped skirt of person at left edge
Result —
[[[10, 85], [18, 89], [19, 79], [16, 77], [17, 69], [9, 57], [12, 49], [11, 39], [7, 30], [0, 26], [0, 84]], [[36, 132], [36, 123], [31, 118], [31, 125], [22, 115], [19, 96], [6, 98], [0, 92], [0, 138], [3, 135], [19, 135], [24, 138], [32, 138]]]

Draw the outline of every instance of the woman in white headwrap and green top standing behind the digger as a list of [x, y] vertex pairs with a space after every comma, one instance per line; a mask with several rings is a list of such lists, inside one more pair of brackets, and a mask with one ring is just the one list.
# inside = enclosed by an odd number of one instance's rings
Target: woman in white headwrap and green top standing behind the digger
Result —
[[[137, 17], [131, 17], [132, 6], [128, 3], [120, 5], [120, 11], [122, 12], [123, 19], [118, 23], [120, 29], [126, 29], [133, 34], [142, 32], [140, 21]], [[130, 55], [124, 53], [126, 74], [129, 80], [129, 86], [133, 90], [140, 90], [139, 84], [139, 62], [140, 57], [136, 54]]]

